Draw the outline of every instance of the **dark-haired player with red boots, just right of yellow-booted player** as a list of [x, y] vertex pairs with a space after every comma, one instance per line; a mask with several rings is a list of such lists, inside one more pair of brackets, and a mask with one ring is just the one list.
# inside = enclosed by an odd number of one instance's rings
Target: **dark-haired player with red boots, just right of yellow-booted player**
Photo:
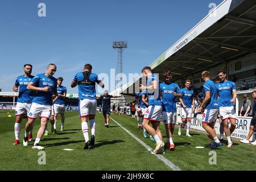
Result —
[[174, 127], [176, 123], [176, 102], [175, 97], [181, 97], [179, 85], [172, 82], [172, 75], [170, 71], [163, 73], [164, 82], [160, 84], [160, 90], [163, 95], [163, 112], [162, 117], [164, 126], [166, 127], [166, 145], [170, 150], [175, 150], [175, 144], [172, 140], [174, 134]]

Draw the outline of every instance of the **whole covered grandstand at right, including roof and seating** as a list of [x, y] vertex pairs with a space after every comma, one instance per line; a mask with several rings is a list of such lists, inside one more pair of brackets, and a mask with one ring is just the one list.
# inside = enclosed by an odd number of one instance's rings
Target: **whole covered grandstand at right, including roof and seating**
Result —
[[[164, 80], [162, 73], [170, 70], [181, 88], [186, 79], [191, 79], [197, 90], [203, 85], [201, 72], [209, 71], [214, 79], [218, 70], [225, 69], [228, 79], [236, 82], [237, 90], [250, 94], [256, 84], [255, 45], [256, 1], [225, 0], [149, 66], [159, 74], [160, 82]], [[130, 99], [138, 92], [142, 77], [135, 77], [118, 92]], [[240, 99], [238, 94], [238, 103]], [[243, 135], [237, 138], [247, 134], [246, 127], [242, 128]]]

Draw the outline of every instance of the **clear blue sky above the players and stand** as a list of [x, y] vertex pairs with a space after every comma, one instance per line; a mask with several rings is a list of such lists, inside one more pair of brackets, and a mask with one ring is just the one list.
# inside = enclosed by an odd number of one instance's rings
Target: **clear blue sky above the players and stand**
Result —
[[[46, 4], [46, 17], [38, 4]], [[222, 0], [1, 0], [0, 88], [11, 92], [23, 65], [34, 66], [32, 75], [57, 65], [55, 77], [70, 83], [84, 64], [93, 72], [110, 75], [117, 66], [115, 40], [125, 40], [123, 72], [139, 73], [209, 13], [209, 3]], [[110, 80], [109, 80], [110, 81]]]

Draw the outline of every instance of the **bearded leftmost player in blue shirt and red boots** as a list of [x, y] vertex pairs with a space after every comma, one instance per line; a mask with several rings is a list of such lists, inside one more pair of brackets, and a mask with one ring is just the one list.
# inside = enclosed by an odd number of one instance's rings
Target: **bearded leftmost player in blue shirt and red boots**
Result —
[[[23, 70], [24, 75], [18, 76], [13, 86], [14, 92], [18, 92], [19, 87], [19, 96], [15, 109], [16, 122], [14, 125], [14, 145], [19, 144], [20, 123], [22, 122], [23, 116], [28, 114], [28, 111], [30, 110], [30, 106], [32, 103], [32, 99], [34, 97], [34, 92], [27, 90], [28, 83], [32, 80], [32, 78], [34, 78], [34, 76], [31, 75], [32, 65], [25, 64]], [[33, 127], [31, 127], [30, 134], [28, 135], [29, 142], [32, 141], [32, 129]]]

